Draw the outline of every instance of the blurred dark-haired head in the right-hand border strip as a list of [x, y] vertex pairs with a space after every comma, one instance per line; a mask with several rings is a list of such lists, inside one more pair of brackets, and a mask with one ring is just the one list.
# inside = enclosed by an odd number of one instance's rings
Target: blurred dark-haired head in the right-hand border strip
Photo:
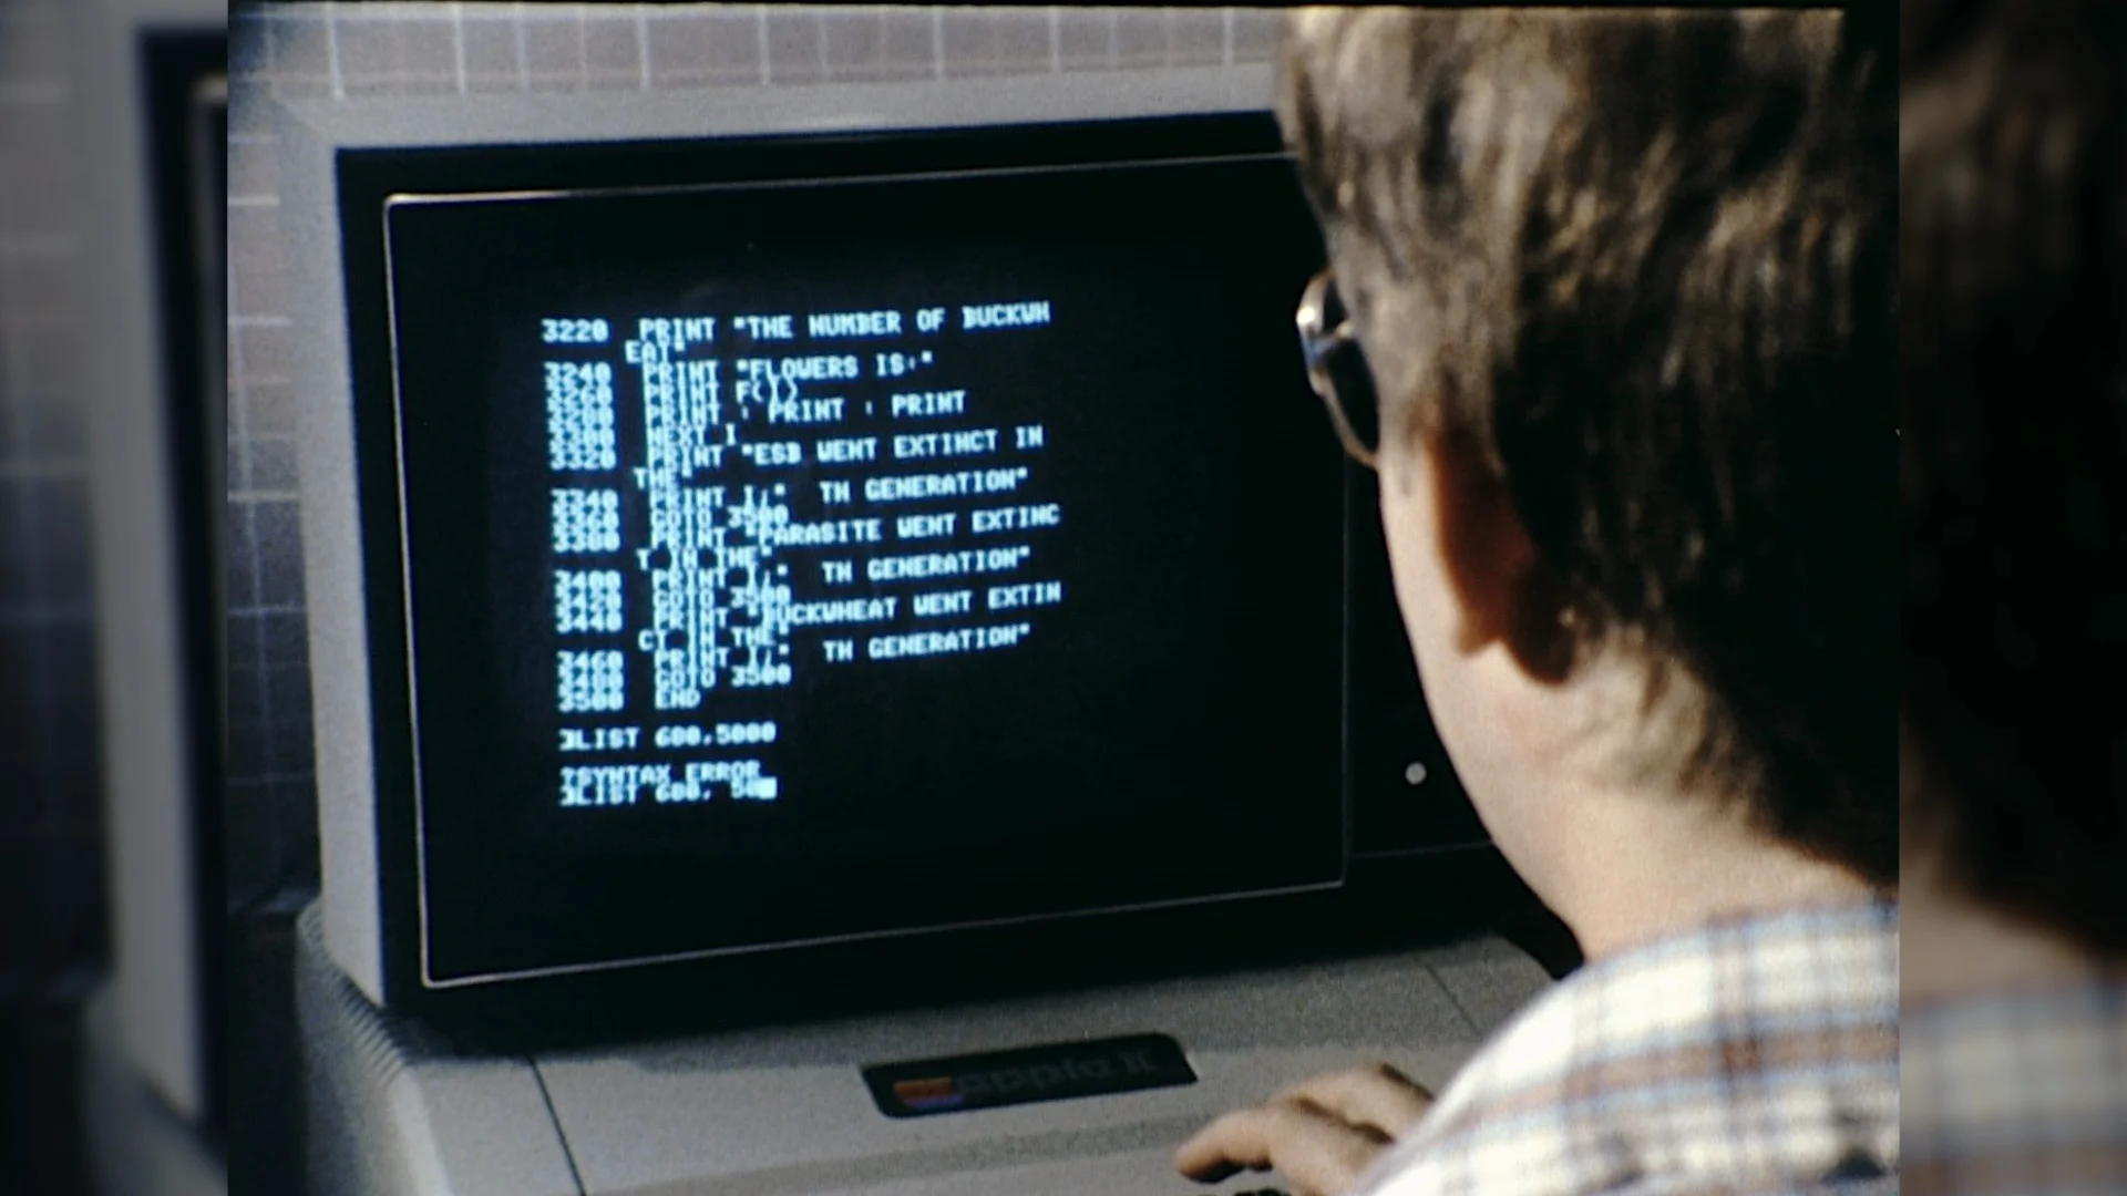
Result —
[[1908, 849], [2127, 958], [2127, 13], [1899, 26]]

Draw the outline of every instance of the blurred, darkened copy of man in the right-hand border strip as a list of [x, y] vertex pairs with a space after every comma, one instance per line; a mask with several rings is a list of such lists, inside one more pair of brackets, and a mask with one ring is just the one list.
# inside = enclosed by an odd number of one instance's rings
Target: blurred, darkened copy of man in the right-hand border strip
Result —
[[2127, 11], [1902, 13], [1908, 1192], [2127, 1192]]

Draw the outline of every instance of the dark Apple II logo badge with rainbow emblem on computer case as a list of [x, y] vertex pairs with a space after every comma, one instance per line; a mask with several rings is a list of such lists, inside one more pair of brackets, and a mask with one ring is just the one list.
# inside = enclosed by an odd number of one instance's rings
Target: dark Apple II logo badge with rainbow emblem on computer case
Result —
[[1166, 1034], [1057, 1043], [1019, 1051], [917, 1060], [864, 1068], [864, 1083], [887, 1117], [929, 1117], [1074, 1100], [1195, 1083], [1180, 1045]]

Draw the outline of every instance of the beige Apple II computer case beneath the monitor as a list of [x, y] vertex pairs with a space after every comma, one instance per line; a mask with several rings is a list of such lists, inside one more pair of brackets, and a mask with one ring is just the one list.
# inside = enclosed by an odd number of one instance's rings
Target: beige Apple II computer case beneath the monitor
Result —
[[[1308, 968], [540, 1056], [453, 1053], [376, 1011], [300, 926], [315, 1196], [1183, 1196], [1174, 1147], [1368, 1060], [1440, 1090], [1551, 979], [1495, 941]], [[885, 1117], [861, 1068], [1168, 1034], [1198, 1083]]]

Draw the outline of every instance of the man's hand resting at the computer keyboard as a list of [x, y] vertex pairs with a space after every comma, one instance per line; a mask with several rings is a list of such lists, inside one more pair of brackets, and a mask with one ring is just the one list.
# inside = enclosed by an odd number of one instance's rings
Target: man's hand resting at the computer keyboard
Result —
[[1342, 1070], [1219, 1117], [1174, 1151], [1174, 1166], [1204, 1183], [1276, 1168], [1293, 1196], [1344, 1196], [1431, 1107], [1434, 1094], [1389, 1064]]

